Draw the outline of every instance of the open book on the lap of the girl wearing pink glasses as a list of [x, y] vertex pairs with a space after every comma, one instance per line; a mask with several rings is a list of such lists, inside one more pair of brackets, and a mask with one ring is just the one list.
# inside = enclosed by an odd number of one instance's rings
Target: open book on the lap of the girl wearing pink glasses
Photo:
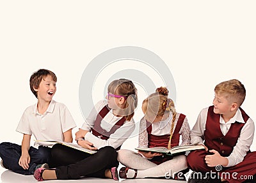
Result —
[[61, 142], [61, 141], [54, 141], [54, 140], [36, 140], [35, 142], [38, 145], [46, 145], [46, 146], [52, 146], [55, 143], [61, 143], [62, 145], [67, 145], [68, 147], [81, 150], [83, 152], [87, 152], [89, 154], [94, 154], [97, 152], [97, 150], [90, 150], [90, 149], [85, 149], [81, 145], [78, 145], [76, 143], [71, 143], [71, 142]]

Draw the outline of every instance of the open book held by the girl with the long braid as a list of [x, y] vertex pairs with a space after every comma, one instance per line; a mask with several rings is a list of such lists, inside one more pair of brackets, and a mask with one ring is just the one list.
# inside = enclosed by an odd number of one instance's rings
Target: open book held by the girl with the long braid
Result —
[[168, 155], [180, 154], [182, 152], [191, 151], [191, 150], [198, 150], [204, 149], [202, 145], [182, 145], [182, 146], [175, 146], [171, 149], [167, 149], [166, 147], [137, 147], [136, 150], [140, 150], [143, 152], [158, 152]]

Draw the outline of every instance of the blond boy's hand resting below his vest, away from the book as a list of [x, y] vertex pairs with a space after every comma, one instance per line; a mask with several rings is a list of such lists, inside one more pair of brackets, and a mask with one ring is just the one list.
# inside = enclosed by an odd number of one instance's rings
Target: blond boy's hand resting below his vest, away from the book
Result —
[[209, 167], [214, 167], [218, 165], [227, 166], [228, 165], [228, 159], [227, 157], [220, 156], [220, 153], [217, 150], [209, 150], [209, 152], [212, 152], [212, 155], [206, 155], [205, 156], [205, 163]]

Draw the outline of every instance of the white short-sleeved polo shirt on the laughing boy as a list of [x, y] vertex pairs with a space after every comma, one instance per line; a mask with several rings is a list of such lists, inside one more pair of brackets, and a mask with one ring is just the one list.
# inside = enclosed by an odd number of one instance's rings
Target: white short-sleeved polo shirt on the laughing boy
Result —
[[[64, 141], [63, 133], [76, 127], [67, 106], [51, 100], [46, 112], [40, 114], [37, 103], [24, 111], [16, 131], [34, 135], [36, 140]], [[37, 147], [40, 144], [35, 144]]]

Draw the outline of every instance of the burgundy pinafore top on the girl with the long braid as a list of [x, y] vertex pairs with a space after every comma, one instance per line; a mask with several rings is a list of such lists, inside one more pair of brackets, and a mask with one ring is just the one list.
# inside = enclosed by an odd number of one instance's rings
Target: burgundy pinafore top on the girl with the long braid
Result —
[[[175, 147], [179, 145], [180, 142], [180, 128], [183, 124], [186, 115], [180, 113], [179, 119], [177, 121], [175, 130], [173, 131], [171, 147]], [[148, 147], [168, 147], [168, 143], [170, 140], [170, 134], [168, 135], [152, 135], [152, 124], [147, 121], [147, 132], [148, 132]]]

